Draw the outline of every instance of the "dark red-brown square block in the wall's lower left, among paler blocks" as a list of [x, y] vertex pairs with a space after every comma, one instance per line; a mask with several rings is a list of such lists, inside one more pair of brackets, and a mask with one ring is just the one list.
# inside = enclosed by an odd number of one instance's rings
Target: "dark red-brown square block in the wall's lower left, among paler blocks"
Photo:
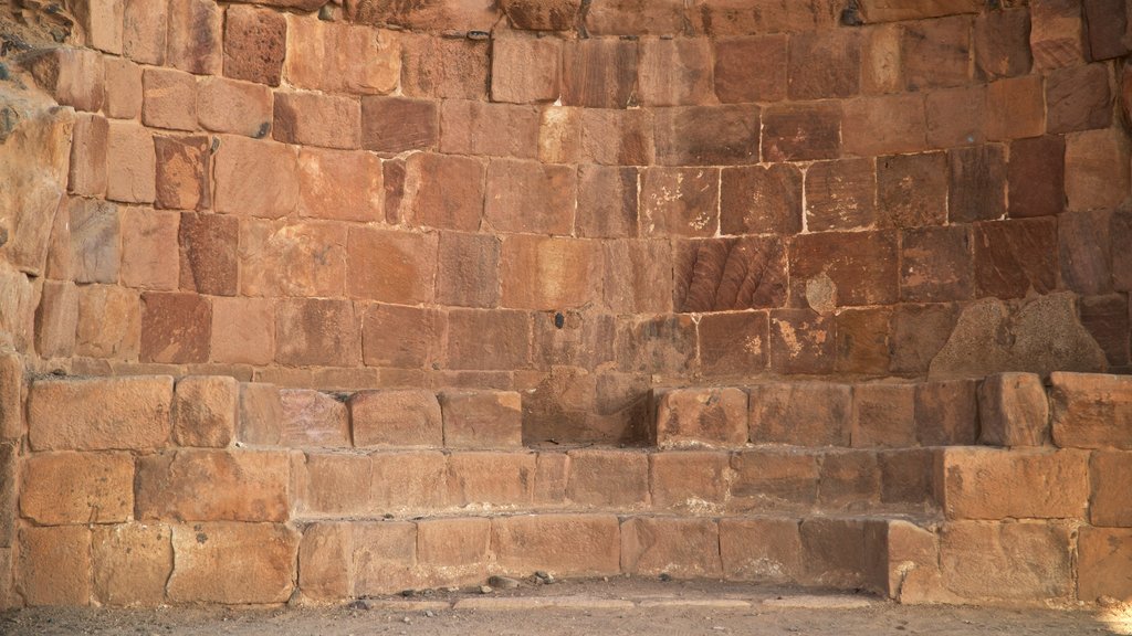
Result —
[[142, 360], [206, 362], [212, 304], [194, 293], [142, 294]]

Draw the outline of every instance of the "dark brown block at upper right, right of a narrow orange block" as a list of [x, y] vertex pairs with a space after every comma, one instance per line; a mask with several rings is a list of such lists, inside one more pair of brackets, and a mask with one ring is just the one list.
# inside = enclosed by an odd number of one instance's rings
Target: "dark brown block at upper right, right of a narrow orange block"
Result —
[[1046, 78], [1047, 132], [1108, 128], [1112, 120], [1107, 65], [1060, 69]]

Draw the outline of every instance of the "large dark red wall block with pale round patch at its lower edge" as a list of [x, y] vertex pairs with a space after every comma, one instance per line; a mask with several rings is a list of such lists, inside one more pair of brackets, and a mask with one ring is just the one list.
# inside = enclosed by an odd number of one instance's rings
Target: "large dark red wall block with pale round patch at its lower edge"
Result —
[[795, 238], [790, 249], [791, 298], [806, 298], [808, 281], [821, 275], [833, 282], [838, 307], [894, 302], [894, 233], [824, 232]]

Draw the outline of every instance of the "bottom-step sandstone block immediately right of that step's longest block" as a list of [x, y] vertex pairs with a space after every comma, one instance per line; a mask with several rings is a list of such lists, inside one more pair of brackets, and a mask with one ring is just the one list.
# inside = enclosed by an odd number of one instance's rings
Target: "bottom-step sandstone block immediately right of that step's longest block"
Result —
[[719, 527], [713, 519], [635, 517], [621, 523], [621, 569], [676, 578], [722, 575]]

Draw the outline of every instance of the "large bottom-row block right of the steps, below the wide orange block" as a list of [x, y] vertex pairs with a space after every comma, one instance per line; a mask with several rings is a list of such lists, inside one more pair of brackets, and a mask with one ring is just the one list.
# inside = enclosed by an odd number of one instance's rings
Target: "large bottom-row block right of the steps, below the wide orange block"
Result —
[[1070, 528], [1043, 522], [950, 523], [940, 536], [943, 581], [962, 599], [1041, 602], [1072, 593]]

